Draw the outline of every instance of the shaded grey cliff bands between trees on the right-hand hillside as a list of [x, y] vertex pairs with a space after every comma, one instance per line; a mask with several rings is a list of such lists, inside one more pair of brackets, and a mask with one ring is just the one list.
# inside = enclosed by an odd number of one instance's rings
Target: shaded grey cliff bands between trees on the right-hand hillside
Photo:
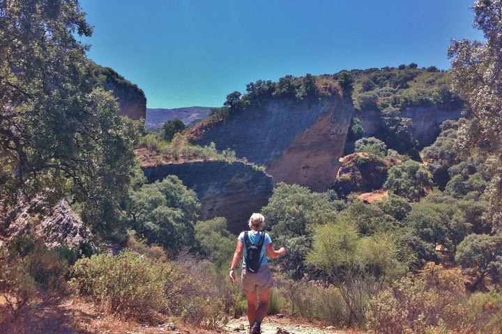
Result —
[[[355, 114], [365, 129], [365, 136], [374, 136], [381, 125], [381, 112], [375, 110], [359, 111]], [[421, 145], [434, 143], [439, 132], [439, 125], [445, 120], [457, 120], [462, 116], [462, 109], [448, 111], [441, 106], [412, 106], [401, 111], [401, 116], [411, 119], [411, 134]]]

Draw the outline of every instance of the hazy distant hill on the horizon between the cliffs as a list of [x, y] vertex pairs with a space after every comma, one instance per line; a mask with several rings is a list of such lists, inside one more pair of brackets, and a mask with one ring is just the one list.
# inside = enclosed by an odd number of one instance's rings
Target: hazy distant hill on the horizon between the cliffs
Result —
[[160, 129], [167, 120], [179, 118], [185, 124], [206, 118], [211, 111], [211, 106], [188, 106], [175, 109], [146, 109], [145, 127]]

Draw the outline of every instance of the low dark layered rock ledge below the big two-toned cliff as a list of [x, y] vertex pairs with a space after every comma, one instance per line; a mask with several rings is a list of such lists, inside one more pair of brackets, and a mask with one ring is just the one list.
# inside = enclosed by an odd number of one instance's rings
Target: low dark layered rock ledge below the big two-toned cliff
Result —
[[252, 166], [235, 162], [190, 162], [143, 168], [148, 182], [176, 175], [197, 193], [201, 219], [227, 218], [229, 230], [241, 232], [248, 218], [267, 205], [272, 195], [272, 177]]

